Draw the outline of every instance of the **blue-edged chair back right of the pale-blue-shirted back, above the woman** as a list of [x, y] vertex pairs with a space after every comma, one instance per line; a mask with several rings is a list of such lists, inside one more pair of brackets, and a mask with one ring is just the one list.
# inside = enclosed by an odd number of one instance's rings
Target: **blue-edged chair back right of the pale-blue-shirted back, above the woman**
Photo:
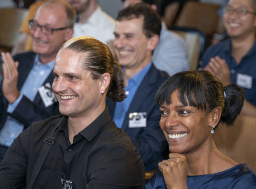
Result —
[[171, 27], [186, 42], [188, 56], [190, 59], [190, 70], [196, 70], [199, 66], [199, 60], [203, 55], [206, 46], [206, 35], [200, 29], [192, 29], [185, 27]]

